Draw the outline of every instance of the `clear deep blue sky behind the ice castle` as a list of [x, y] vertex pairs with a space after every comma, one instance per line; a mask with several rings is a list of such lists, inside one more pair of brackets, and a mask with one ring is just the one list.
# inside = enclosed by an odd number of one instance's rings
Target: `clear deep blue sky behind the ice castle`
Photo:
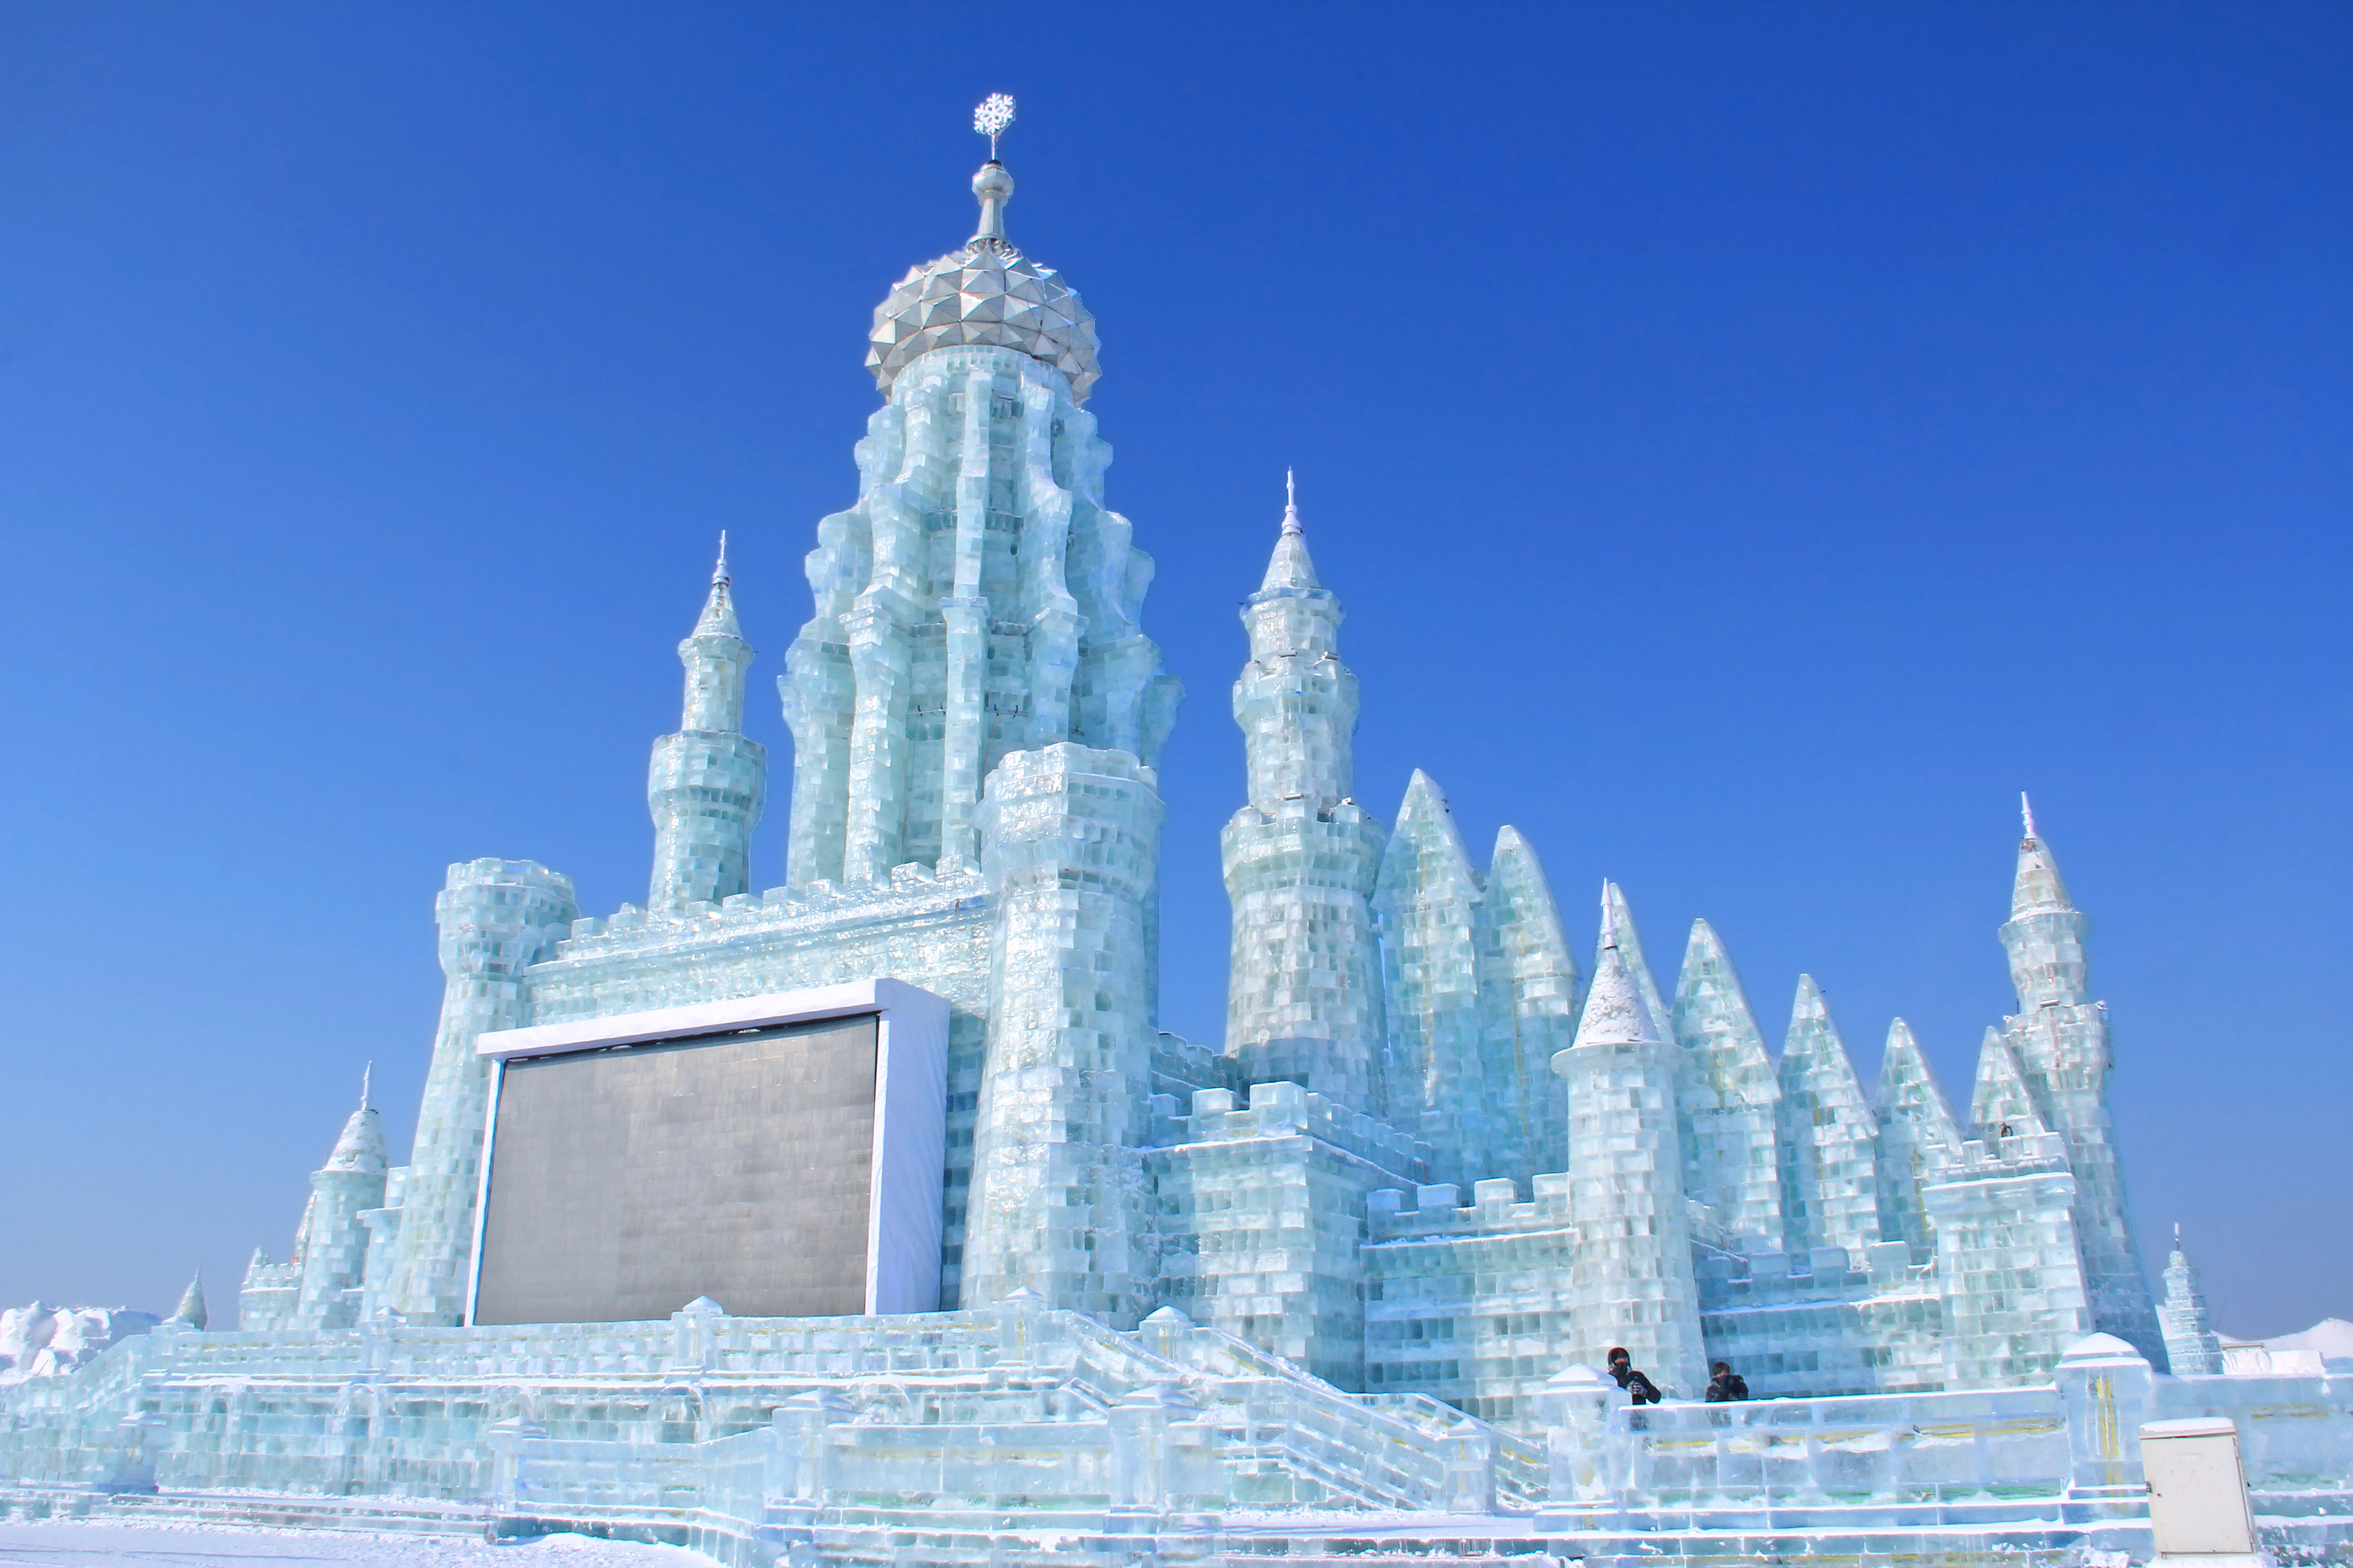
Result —
[[772, 693], [1012, 92], [1191, 689], [1167, 1027], [1297, 465], [1377, 813], [1424, 766], [1581, 947], [1614, 877], [1965, 1100], [2033, 790], [2153, 1267], [2353, 1316], [2348, 68], [2318, 5], [7, 5], [0, 1302], [226, 1316], [367, 1060], [405, 1150], [447, 863], [642, 903], [713, 541]]

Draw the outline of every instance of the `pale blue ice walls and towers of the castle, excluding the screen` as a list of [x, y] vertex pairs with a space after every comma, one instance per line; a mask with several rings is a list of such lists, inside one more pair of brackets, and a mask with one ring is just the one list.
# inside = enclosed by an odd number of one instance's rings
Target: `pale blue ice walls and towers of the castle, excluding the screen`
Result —
[[[2085, 919], [2031, 825], [2000, 929], [2019, 1013], [1988, 1032], [1967, 1119], [1901, 1020], [1866, 1093], [1812, 978], [1774, 1058], [1706, 922], [1664, 992], [1614, 884], [1588, 992], [1520, 832], [1480, 867], [1426, 773], [1393, 827], [1355, 799], [1341, 604], [1292, 505], [1242, 604], [1228, 1034], [1155, 1027], [1179, 689], [1139, 625], [1153, 567], [1104, 503], [1092, 317], [1002, 237], [1009, 176], [974, 190], [981, 233], [875, 313], [859, 498], [807, 557], [814, 616], [779, 679], [784, 884], [751, 891], [767, 757], [741, 733], [753, 649], [722, 559], [654, 743], [647, 905], [584, 917], [548, 867], [452, 865], [409, 1161], [362, 1105], [292, 1258], [256, 1255], [240, 1331], [169, 1324], [19, 1399], [9, 1474], [487, 1490], [579, 1516], [692, 1474], [699, 1509], [767, 1526], [887, 1514], [918, 1472], [974, 1507], [1026, 1488], [1162, 1516], [1769, 1502], [1762, 1462], [1657, 1479], [1689, 1465], [1659, 1434], [1697, 1415], [1635, 1425], [1586, 1371], [1626, 1345], [1678, 1396], [1713, 1359], [1784, 1396], [1748, 1427], [1838, 1427], [1814, 1490], [1840, 1443], [1892, 1453], [1925, 1413], [1974, 1422], [1974, 1458], [1871, 1460], [1873, 1488], [1958, 1486], [1939, 1465], [2068, 1486], [2071, 1446], [2113, 1429], [2054, 1392], [2071, 1354], [2122, 1356], [2113, 1399], [2205, 1340], [2186, 1307], [2158, 1335]], [[478, 1034], [880, 976], [951, 1006], [939, 1314], [461, 1324]], [[2217, 1399], [2165, 1387], [2144, 1406]], [[120, 1420], [160, 1422], [158, 1448]], [[2012, 1427], [2040, 1436], [1988, 1436]], [[2334, 1476], [2322, 1448], [2308, 1469]]]

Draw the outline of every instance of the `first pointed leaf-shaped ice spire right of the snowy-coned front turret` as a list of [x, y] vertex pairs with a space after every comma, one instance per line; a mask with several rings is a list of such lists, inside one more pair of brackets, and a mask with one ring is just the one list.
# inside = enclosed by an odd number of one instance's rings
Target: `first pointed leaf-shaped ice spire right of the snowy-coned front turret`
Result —
[[1781, 1084], [1715, 926], [1692, 922], [1675, 980], [1675, 1114], [1682, 1185], [1718, 1225], [1781, 1248]]

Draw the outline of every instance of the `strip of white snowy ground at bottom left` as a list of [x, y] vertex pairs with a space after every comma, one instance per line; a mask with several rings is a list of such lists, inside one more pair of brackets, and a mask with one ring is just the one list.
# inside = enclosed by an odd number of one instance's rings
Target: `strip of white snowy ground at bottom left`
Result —
[[235, 1568], [264, 1563], [353, 1563], [355, 1568], [713, 1568], [701, 1552], [626, 1540], [544, 1535], [485, 1544], [456, 1535], [365, 1535], [358, 1530], [240, 1530], [231, 1526], [5, 1523], [0, 1568]]

